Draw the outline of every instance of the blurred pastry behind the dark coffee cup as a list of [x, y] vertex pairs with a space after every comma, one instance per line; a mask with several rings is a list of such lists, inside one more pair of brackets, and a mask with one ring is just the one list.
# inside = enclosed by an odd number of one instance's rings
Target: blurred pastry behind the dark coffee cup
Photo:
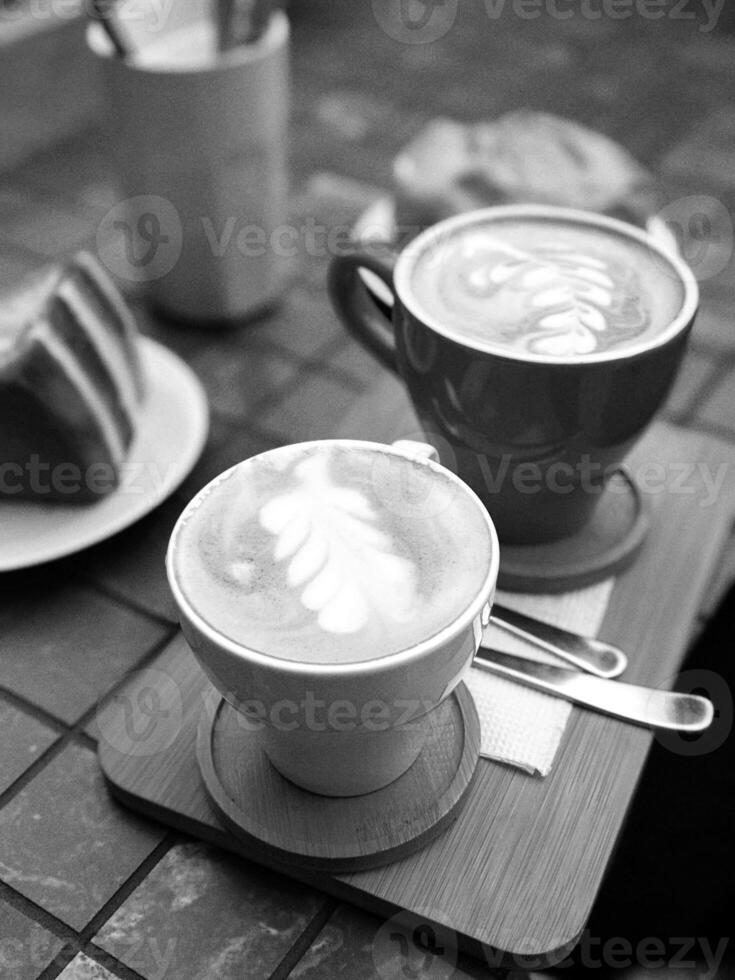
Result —
[[396, 158], [394, 189], [406, 230], [495, 204], [555, 204], [635, 224], [660, 206], [653, 177], [619, 144], [530, 109], [493, 122], [433, 120]]

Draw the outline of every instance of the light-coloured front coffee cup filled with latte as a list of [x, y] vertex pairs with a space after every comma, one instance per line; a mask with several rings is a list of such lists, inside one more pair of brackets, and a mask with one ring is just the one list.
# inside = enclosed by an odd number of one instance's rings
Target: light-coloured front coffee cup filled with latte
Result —
[[416, 444], [321, 440], [206, 486], [167, 568], [189, 644], [271, 762], [351, 796], [421, 751], [478, 649], [498, 543], [476, 495]]

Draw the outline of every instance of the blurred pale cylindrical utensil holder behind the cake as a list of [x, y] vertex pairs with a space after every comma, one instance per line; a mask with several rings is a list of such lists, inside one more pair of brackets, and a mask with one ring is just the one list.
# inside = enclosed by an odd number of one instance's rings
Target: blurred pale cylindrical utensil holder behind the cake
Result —
[[218, 324], [267, 309], [288, 274], [289, 22], [276, 11], [223, 51], [213, 10], [187, 0], [161, 24], [125, 19], [124, 58], [101, 24], [87, 39], [124, 192], [100, 258], [163, 312]]

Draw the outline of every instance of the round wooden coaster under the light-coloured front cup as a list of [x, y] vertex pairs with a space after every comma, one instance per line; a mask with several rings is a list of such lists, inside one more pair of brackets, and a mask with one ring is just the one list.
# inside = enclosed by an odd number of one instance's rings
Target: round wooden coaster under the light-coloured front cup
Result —
[[199, 722], [197, 757], [217, 814], [238, 838], [277, 860], [323, 871], [360, 871], [397, 860], [437, 837], [459, 814], [480, 753], [480, 721], [460, 684], [433, 713], [421, 754], [402, 776], [364, 796], [318, 796], [271, 765], [261, 733], [221, 700]]

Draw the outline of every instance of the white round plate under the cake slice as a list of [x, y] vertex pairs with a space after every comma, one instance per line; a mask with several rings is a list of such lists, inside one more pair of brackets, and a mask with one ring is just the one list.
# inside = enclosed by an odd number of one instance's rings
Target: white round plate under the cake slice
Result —
[[209, 406], [201, 382], [167, 347], [142, 340], [148, 395], [121, 485], [82, 506], [0, 498], [0, 572], [71, 555], [122, 531], [181, 483], [207, 439]]

